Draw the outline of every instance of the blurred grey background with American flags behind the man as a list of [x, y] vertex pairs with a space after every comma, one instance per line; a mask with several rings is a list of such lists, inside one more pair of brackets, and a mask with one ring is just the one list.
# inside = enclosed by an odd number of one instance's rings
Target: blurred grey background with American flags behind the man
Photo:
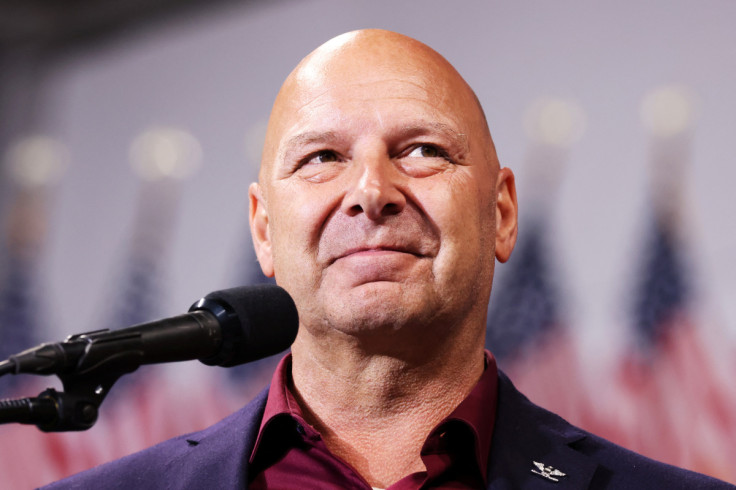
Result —
[[[380, 27], [442, 53], [517, 175], [488, 347], [532, 401], [736, 482], [736, 4], [0, 1], [0, 358], [265, 280], [247, 224], [276, 92]], [[122, 379], [83, 433], [0, 426], [29, 488], [231, 413], [273, 359]], [[54, 379], [5, 376], [0, 396]]]

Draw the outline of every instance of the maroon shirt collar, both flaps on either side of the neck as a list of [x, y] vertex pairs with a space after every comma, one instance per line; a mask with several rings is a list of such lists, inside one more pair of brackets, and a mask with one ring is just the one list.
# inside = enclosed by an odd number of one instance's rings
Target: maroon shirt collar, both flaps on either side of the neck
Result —
[[[292, 419], [305, 431], [307, 437], [319, 437], [319, 434], [304, 421], [301, 408], [294, 395], [289, 390], [291, 378], [291, 354], [287, 354], [279, 362], [271, 379], [268, 399], [263, 413], [258, 437], [250, 455], [250, 462], [255, 459], [258, 447], [264, 437], [267, 427], [276, 418], [290, 415]], [[485, 370], [480, 380], [470, 394], [430, 433], [441, 431], [445, 424], [459, 421], [465, 424], [472, 432], [475, 440], [475, 456], [481, 473], [486, 473], [488, 456], [491, 450], [493, 425], [496, 420], [496, 401], [498, 396], [498, 368], [496, 359], [490, 351], [485, 351]]]

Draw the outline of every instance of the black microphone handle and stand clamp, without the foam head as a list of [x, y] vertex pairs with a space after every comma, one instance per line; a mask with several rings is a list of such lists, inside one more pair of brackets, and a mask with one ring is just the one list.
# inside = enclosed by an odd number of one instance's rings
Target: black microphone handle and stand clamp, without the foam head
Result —
[[[171, 346], [165, 357], [159, 354], [156, 359], [147, 358], [144, 346], [167, 341], [172, 330], [182, 328], [182, 319], [188, 323], [184, 328], [198, 326], [201, 334]], [[6, 361], [11, 367], [6, 366], [6, 371], [13, 372], [14, 366], [23, 363], [24, 372], [56, 374], [64, 391], [48, 388], [34, 398], [0, 400], [0, 424], [32, 424], [44, 432], [87, 430], [97, 421], [100, 405], [120, 377], [141, 364], [191, 359], [193, 352], [196, 357], [210, 357], [214, 354], [213, 343], [203, 340], [215, 337], [215, 344], [220, 340], [217, 319], [206, 311], [196, 310], [155, 323], [155, 330], [149, 323], [145, 329], [133, 326], [72, 335], [61, 344], [63, 349], [60, 344], [49, 343], [11, 356]]]

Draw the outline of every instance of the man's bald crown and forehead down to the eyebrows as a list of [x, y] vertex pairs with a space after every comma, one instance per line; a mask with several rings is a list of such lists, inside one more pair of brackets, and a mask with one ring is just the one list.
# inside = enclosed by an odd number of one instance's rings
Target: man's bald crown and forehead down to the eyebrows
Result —
[[284, 82], [261, 170], [303, 133], [440, 126], [468, 135], [471, 143], [489, 143], [477, 99], [452, 65], [409, 38], [344, 36], [311, 53]]

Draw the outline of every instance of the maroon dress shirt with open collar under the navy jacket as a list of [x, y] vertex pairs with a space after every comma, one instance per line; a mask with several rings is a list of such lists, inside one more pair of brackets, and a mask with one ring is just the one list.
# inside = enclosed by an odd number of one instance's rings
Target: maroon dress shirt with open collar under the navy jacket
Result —
[[[426, 471], [407, 475], [389, 489], [486, 488], [498, 388], [496, 360], [489, 351], [485, 364], [473, 391], [424, 442], [421, 458]], [[250, 456], [249, 488], [371, 490], [304, 420], [290, 385], [291, 354], [281, 360], [271, 380]]]

